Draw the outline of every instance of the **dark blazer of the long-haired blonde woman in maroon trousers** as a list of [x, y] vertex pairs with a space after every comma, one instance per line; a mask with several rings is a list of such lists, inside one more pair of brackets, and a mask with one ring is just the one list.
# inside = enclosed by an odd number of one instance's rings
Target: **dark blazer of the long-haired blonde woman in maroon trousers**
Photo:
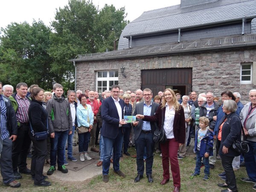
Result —
[[[144, 116], [144, 121], [158, 122], [159, 130], [162, 128], [162, 116], [165, 116], [166, 107], [161, 109], [159, 106], [154, 116]], [[164, 118], [164, 117], [163, 117]], [[174, 138], [179, 143], [185, 143], [186, 137], [186, 125], [185, 125], [185, 115], [183, 107], [180, 105], [180, 109], [175, 111], [174, 122], [173, 122], [173, 134]]]

